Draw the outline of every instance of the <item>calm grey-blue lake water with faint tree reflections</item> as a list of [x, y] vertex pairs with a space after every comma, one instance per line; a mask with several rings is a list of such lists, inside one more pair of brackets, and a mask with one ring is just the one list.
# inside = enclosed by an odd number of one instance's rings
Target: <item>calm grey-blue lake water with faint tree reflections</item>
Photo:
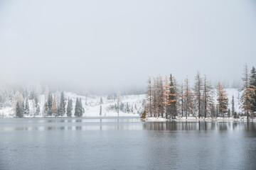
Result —
[[0, 169], [256, 169], [256, 123], [0, 119]]

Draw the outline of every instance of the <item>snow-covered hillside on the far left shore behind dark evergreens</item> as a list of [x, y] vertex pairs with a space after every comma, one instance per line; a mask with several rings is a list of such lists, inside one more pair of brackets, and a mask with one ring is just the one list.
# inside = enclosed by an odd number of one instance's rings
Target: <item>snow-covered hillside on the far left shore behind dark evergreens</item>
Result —
[[[58, 96], [58, 94], [53, 94], [53, 96]], [[100, 98], [102, 97], [103, 103], [100, 104]], [[85, 113], [83, 113], [83, 117], [97, 117], [100, 116], [100, 106], [102, 106], [102, 115], [101, 116], [139, 116], [139, 113], [144, 111], [144, 107], [142, 107], [142, 103], [144, 101], [145, 95], [127, 95], [121, 97], [121, 102], [125, 104], [129, 104], [129, 106], [133, 106], [134, 111], [129, 113], [124, 113], [119, 111], [119, 114], [116, 111], [110, 111], [107, 109], [110, 105], [114, 105], [117, 103], [117, 100], [107, 100], [107, 96], [89, 96], [87, 97], [87, 104], [85, 104], [86, 97], [79, 96], [77, 94], [71, 92], [65, 92], [66, 103], [68, 103], [68, 98], [73, 100], [73, 116], [75, 113], [75, 101], [76, 98], [81, 98], [82, 106], [85, 108]], [[33, 113], [36, 112], [36, 108], [33, 106], [33, 101], [29, 102], [30, 115], [24, 115], [25, 118], [34, 117]], [[40, 106], [40, 115], [37, 117], [43, 117], [43, 106], [45, 103], [45, 96], [42, 94], [39, 96], [38, 104]], [[135, 109], [135, 105], [136, 108]], [[67, 104], [66, 104], [67, 106]], [[66, 116], [66, 115], [64, 115]], [[15, 117], [14, 109], [11, 107], [3, 108], [0, 110], [0, 118], [13, 118]]]

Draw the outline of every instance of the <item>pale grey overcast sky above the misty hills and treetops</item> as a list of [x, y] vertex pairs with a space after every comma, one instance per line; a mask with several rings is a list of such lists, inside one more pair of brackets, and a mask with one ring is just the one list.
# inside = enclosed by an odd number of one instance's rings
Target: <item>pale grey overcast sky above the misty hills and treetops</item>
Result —
[[1, 81], [143, 87], [150, 74], [240, 79], [256, 1], [1, 1]]

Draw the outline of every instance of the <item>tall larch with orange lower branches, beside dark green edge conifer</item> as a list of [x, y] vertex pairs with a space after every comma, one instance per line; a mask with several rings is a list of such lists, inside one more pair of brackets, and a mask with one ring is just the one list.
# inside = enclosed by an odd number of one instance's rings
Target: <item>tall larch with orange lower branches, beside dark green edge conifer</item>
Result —
[[250, 75], [248, 72], [247, 64], [245, 64], [245, 69], [242, 77], [242, 111], [244, 111], [245, 115], [247, 115], [247, 120], [249, 120], [249, 114], [252, 112], [252, 96], [254, 94], [254, 89], [250, 86]]

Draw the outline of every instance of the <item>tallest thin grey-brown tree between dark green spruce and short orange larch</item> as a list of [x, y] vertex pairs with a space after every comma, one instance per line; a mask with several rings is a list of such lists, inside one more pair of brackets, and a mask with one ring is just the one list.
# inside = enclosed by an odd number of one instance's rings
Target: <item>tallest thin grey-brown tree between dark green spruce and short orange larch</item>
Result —
[[201, 103], [202, 103], [202, 91], [203, 91], [203, 80], [201, 78], [200, 72], [198, 71], [195, 77], [195, 86], [194, 86], [194, 94], [196, 99], [196, 107], [198, 111], [198, 118], [201, 116]]

